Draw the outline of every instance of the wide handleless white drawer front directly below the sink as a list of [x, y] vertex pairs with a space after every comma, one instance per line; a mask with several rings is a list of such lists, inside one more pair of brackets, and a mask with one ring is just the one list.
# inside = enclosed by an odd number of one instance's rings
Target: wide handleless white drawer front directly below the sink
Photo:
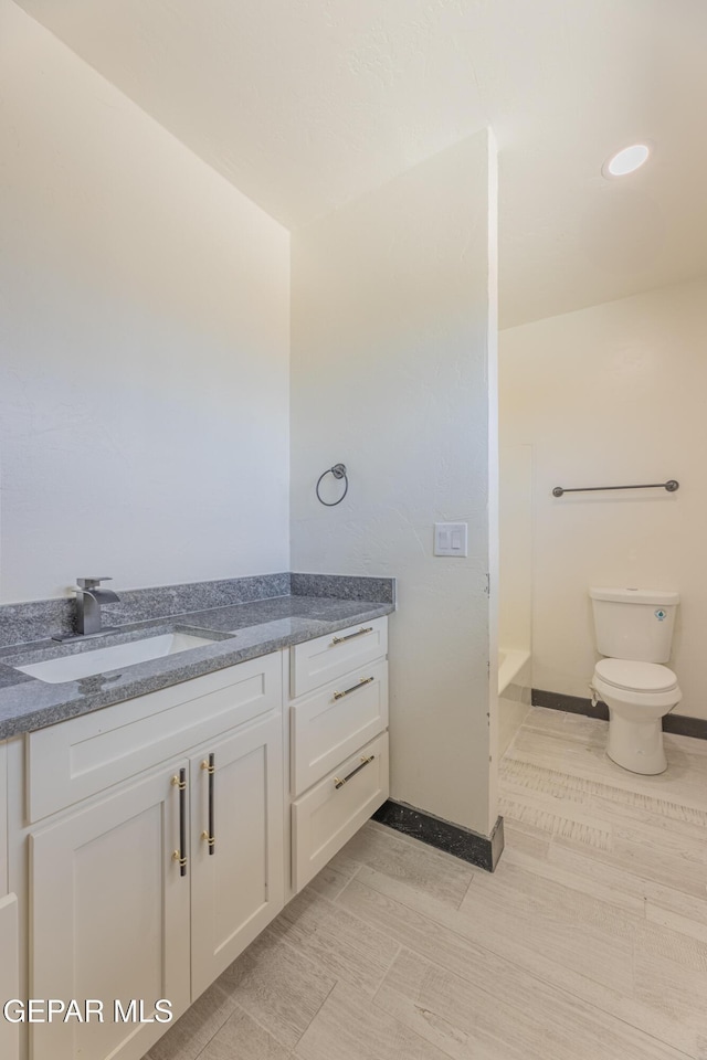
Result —
[[279, 653], [31, 732], [28, 818], [40, 820], [270, 710], [282, 710]]

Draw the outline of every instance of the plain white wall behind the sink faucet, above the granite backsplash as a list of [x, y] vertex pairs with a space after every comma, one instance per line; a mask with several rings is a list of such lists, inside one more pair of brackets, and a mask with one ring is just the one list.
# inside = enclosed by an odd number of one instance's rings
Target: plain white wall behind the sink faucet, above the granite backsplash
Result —
[[0, 601], [289, 568], [289, 236], [0, 0]]

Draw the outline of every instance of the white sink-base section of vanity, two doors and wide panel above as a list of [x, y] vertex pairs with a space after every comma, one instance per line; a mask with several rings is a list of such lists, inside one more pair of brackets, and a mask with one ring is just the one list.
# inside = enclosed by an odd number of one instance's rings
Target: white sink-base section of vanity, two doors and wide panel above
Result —
[[[155, 1003], [177, 1018], [282, 909], [281, 672], [265, 656], [28, 736], [29, 803], [62, 807], [28, 829], [29, 996], [104, 1014], [33, 1024], [31, 1060], [143, 1057], [169, 1026]], [[65, 806], [146, 746], [149, 768]], [[115, 1021], [133, 999], [155, 1021]]]

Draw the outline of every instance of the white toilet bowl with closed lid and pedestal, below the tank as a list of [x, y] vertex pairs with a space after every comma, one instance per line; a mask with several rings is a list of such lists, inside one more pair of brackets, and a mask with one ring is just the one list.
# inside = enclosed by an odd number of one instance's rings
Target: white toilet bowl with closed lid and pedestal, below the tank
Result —
[[662, 719], [683, 698], [673, 670], [634, 659], [601, 659], [591, 687], [609, 708], [606, 754], [612, 762], [632, 773], [663, 773]]

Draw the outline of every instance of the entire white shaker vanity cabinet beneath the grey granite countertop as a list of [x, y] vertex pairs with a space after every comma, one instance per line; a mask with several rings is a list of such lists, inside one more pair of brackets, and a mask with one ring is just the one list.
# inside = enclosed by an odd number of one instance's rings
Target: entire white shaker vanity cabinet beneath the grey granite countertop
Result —
[[377, 618], [18, 736], [7, 783], [0, 743], [0, 995], [83, 1017], [2, 1060], [140, 1060], [384, 802], [387, 730]]

